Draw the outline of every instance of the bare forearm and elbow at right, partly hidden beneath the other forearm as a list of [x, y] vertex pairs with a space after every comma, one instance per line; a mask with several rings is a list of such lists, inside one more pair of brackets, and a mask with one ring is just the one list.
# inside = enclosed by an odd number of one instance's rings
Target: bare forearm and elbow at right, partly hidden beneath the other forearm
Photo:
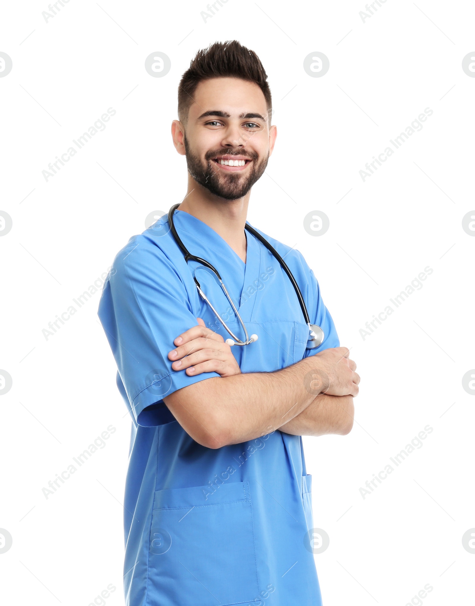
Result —
[[279, 429], [294, 436], [344, 436], [353, 427], [354, 415], [353, 396], [328, 396], [321, 393]]

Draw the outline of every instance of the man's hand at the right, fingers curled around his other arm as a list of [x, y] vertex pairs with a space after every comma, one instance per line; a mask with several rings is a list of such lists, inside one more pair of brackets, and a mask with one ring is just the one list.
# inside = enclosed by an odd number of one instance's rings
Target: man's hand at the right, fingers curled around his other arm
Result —
[[308, 364], [315, 359], [313, 386], [329, 396], [357, 396], [360, 379], [349, 353], [347, 347], [332, 347], [306, 358]]

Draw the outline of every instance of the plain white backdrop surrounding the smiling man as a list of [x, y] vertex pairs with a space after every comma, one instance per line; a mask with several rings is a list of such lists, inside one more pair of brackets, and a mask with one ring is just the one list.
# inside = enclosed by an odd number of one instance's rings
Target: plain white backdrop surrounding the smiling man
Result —
[[[204, 2], [71, 0], [48, 22], [46, 1], [2, 7], [0, 50], [13, 61], [0, 78], [0, 210], [13, 220], [0, 238], [0, 368], [13, 378], [0, 399], [0, 527], [13, 537], [2, 598], [87, 606], [113, 584], [105, 602], [123, 604], [131, 422], [96, 316], [100, 289], [56, 334], [42, 330], [149, 213], [183, 198], [185, 159], [169, 134], [180, 76], [198, 48], [238, 39], [263, 61], [278, 126], [249, 221], [304, 254], [361, 375], [352, 432], [304, 438], [315, 525], [330, 536], [315, 556], [324, 604], [404, 606], [425, 584], [424, 606], [467, 604], [475, 399], [462, 376], [475, 367], [475, 238], [462, 217], [475, 208], [475, 79], [461, 65], [475, 7], [388, 0], [363, 22], [362, 2], [229, 0], [205, 22]], [[157, 51], [171, 59], [163, 78], [144, 68]], [[303, 69], [315, 51], [330, 61], [321, 78]], [[109, 107], [105, 130], [45, 181]], [[427, 107], [422, 130], [362, 181]], [[329, 216], [323, 236], [303, 228], [314, 210]], [[427, 266], [423, 287], [362, 339]], [[106, 446], [46, 499], [42, 488], [108, 425]], [[359, 488], [425, 425], [423, 447], [363, 499]]]

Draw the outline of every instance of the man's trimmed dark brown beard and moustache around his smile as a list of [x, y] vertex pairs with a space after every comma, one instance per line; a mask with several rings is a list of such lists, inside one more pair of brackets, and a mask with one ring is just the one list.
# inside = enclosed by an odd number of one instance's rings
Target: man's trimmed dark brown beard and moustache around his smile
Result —
[[[186, 164], [188, 166], [188, 172], [192, 178], [206, 187], [215, 196], [224, 198], [225, 200], [237, 200], [243, 198], [247, 192], [251, 189], [252, 185], [255, 184], [258, 179], [266, 170], [267, 162], [269, 161], [269, 154], [262, 158], [258, 162], [259, 155], [255, 151], [250, 150], [239, 150], [235, 151], [230, 148], [220, 148], [218, 150], [207, 151], [205, 160], [195, 155], [186, 144], [186, 139], [183, 140], [185, 145]], [[246, 156], [252, 160], [252, 165], [247, 175], [243, 175], [241, 172], [225, 173], [219, 169], [219, 165], [216, 164], [213, 158], [216, 156]]]

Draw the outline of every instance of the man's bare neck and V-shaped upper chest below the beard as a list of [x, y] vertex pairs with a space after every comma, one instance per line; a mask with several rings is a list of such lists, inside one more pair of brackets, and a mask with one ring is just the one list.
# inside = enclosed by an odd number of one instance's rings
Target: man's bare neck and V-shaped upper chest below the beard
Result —
[[247, 241], [244, 225], [250, 195], [249, 191], [243, 198], [224, 200], [197, 184], [188, 175], [188, 191], [179, 210], [211, 227], [245, 263]]

